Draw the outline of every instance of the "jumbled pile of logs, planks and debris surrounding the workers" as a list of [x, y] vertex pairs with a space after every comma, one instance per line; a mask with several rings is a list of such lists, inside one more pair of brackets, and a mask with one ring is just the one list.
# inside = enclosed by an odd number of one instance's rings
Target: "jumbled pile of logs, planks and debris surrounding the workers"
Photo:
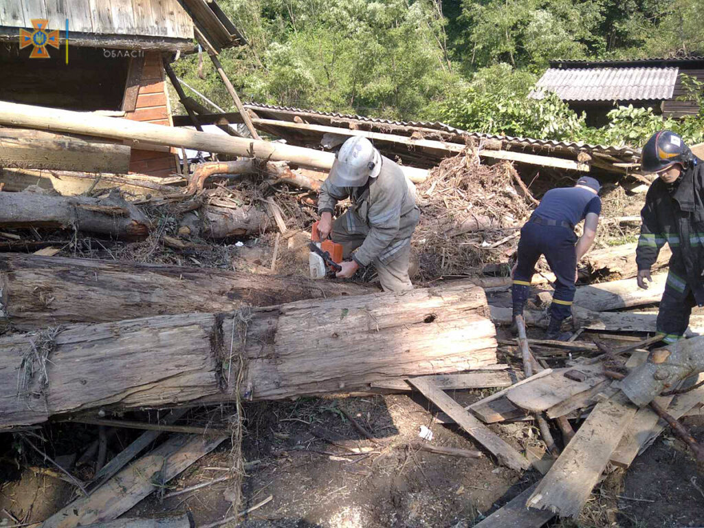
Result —
[[[107, 118], [75, 114], [51, 113], [53, 132], [0, 131], [4, 142], [14, 138], [6, 154], [14, 161], [2, 170], [0, 192], [0, 430], [15, 432], [36, 450], [39, 437], [31, 428], [67, 420], [102, 428], [94, 451], [102, 469], [87, 482], [67, 475], [87, 493], [45, 527], [115, 520], [152, 492], [163, 493], [169, 479], [231, 435], [232, 466], [242, 474], [246, 401], [419, 391], [440, 411], [436, 420], [458, 425], [483, 451], [448, 451], [428, 442], [415, 448], [489, 455], [517, 472], [545, 468], [526, 446], [491, 426], [534, 421], [552, 469], [480, 524], [486, 527], [517, 519], [522, 524], [515, 525], [538, 527], [555, 514], [579, 515], [610, 467], [628, 467], [672, 425], [655, 408], [634, 407], [611, 379], [642, 363], [653, 346], [648, 334], [655, 332], [669, 251], [661, 252], [647, 291], [637, 289], [633, 278], [635, 244], [589, 253], [580, 269], [574, 341], [540, 341], [524, 333], [519, 340], [497, 338], [495, 325], [510, 322], [506, 270], [518, 228], [537, 200], [510, 163], [480, 163], [486, 156], [478, 155], [477, 145], [463, 146], [427, 179], [407, 168], [418, 182], [422, 209], [413, 247], [420, 277], [431, 287], [420, 283], [413, 291], [384, 294], [367, 283], [296, 275], [307, 265], [306, 235], [318, 219], [316, 194], [329, 153], [238, 137], [210, 142], [207, 134], [189, 130], [161, 136], [156, 125], [111, 127]], [[8, 103], [0, 104], [0, 122], [45, 126], [36, 109]], [[168, 179], [121, 175], [122, 146], [68, 135], [80, 130], [243, 157], [184, 168]], [[57, 145], [68, 151], [61, 154]], [[97, 151], [103, 155], [84, 159]], [[92, 170], [107, 172], [87, 172]], [[620, 222], [605, 222], [605, 232], [618, 233], [621, 241], [637, 232], [637, 223]], [[294, 242], [303, 247], [303, 258]], [[251, 266], [242, 265], [247, 251], [262, 247]], [[554, 279], [544, 265], [539, 268], [534, 284]], [[452, 275], [471, 278], [436, 280]], [[525, 314], [529, 327], [546, 324], [550, 300], [542, 291], [532, 301]], [[689, 334], [700, 332], [703, 316], [694, 315]], [[620, 349], [605, 348], [604, 336]], [[522, 372], [498, 364], [497, 353]], [[691, 384], [688, 379], [682, 388]], [[470, 405], [446, 393], [478, 388], [500, 390]], [[664, 394], [656, 403], [677, 420], [704, 402], [703, 390]], [[226, 404], [232, 426], [180, 422], [185, 408]], [[149, 424], [122, 416], [172, 407]], [[100, 451], [106, 427], [145, 432], [108, 460]], [[551, 429], [564, 441], [555, 441]], [[162, 432], [173, 436], [140, 458]], [[239, 493], [239, 481], [233, 482]]]

